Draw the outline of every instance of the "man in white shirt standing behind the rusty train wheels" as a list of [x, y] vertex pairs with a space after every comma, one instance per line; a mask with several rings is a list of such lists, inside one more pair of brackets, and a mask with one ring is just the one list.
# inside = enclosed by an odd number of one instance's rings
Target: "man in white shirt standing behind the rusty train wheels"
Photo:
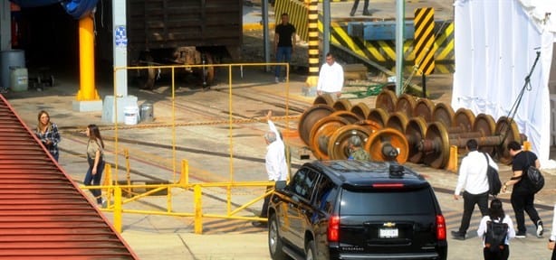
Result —
[[331, 52], [326, 54], [326, 63], [322, 64], [317, 83], [317, 94], [329, 93], [333, 98], [340, 98], [343, 88], [343, 69], [334, 60]]

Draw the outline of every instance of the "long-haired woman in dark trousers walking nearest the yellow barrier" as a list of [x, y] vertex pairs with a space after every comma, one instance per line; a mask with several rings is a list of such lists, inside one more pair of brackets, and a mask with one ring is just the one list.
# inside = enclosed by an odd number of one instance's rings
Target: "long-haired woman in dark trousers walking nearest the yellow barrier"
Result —
[[[98, 186], [101, 185], [102, 171], [104, 170], [104, 142], [102, 142], [101, 131], [97, 125], [88, 125], [86, 130], [89, 136], [87, 144], [87, 162], [89, 170], [85, 175], [84, 184]], [[92, 196], [97, 199], [97, 203], [102, 205], [102, 191], [99, 189], [91, 189]]]

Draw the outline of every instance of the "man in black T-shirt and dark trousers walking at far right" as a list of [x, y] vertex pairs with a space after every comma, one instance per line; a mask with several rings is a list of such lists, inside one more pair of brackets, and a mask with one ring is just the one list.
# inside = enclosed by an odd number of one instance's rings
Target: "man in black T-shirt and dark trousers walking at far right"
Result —
[[527, 212], [529, 218], [536, 227], [537, 237], [542, 237], [544, 228], [542, 227], [542, 220], [539, 217], [537, 209], [533, 205], [535, 200], [535, 190], [532, 186], [531, 181], [527, 177], [527, 170], [530, 166], [534, 166], [537, 169], [541, 167], [539, 159], [535, 153], [529, 151], [522, 151], [522, 145], [512, 141], [508, 145], [508, 151], [510, 155], [513, 156], [512, 171], [513, 176], [510, 181], [506, 181], [503, 184], [502, 191], [505, 192], [508, 186], [513, 185], [512, 201], [513, 212], [515, 213], [515, 222], [517, 222], [517, 234], [515, 237], [526, 237], [527, 228], [525, 227], [525, 214], [523, 210]]

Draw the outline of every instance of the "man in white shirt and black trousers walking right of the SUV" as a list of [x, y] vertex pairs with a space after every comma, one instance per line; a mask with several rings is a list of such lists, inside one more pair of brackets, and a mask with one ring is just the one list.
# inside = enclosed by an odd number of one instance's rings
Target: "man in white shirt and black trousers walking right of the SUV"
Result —
[[[454, 191], [454, 200], [459, 200], [459, 194], [464, 191], [464, 215], [459, 230], [452, 231], [452, 237], [459, 240], [465, 239], [465, 233], [469, 228], [471, 215], [475, 204], [479, 206], [483, 216], [488, 215], [488, 179], [486, 178], [487, 165], [491, 165], [498, 171], [498, 165], [487, 153], [477, 151], [478, 144], [475, 139], [470, 139], [466, 144], [467, 156], [462, 160], [459, 168], [459, 177]], [[487, 158], [488, 157], [488, 163]]]

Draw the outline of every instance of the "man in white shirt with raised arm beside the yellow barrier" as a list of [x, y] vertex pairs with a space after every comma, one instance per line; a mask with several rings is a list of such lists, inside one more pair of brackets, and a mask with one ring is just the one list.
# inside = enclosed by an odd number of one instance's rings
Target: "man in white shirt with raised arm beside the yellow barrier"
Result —
[[[264, 157], [264, 165], [266, 167], [266, 173], [268, 174], [268, 181], [286, 181], [288, 176], [288, 165], [285, 158], [285, 145], [283, 144], [282, 137], [276, 129], [273, 121], [270, 119], [272, 111], [268, 111], [266, 114], [266, 120], [270, 131], [264, 134], [264, 141], [266, 142], [266, 156]], [[272, 190], [274, 186], [267, 186], [266, 191]], [[261, 218], [267, 218], [268, 214], [268, 203], [270, 202], [270, 196], [264, 197], [263, 209], [261, 210]], [[264, 227], [265, 222], [255, 221], [252, 223], [255, 227]]]

